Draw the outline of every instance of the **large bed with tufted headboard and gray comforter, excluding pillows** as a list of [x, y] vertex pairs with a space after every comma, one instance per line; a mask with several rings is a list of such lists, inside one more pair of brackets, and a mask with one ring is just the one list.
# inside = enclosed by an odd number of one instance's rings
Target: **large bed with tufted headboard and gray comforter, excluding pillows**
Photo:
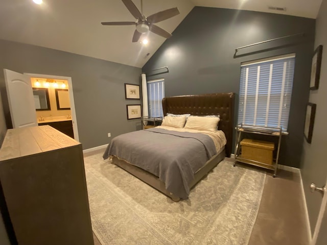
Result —
[[[216, 141], [213, 146], [212, 136], [179, 132], [183, 129], [175, 131], [163, 126], [115, 137], [108, 145], [104, 158], [111, 157], [113, 164], [166, 194], [173, 201], [188, 199], [190, 189], [225, 156], [230, 156], [234, 98], [234, 93], [212, 93], [165, 97], [162, 100], [164, 115], [167, 113], [192, 116], [219, 115], [218, 131], [222, 131], [226, 137], [226, 144], [223, 147], [217, 147]], [[195, 117], [191, 119], [193, 118]], [[186, 120], [186, 124], [187, 122]], [[122, 138], [125, 138], [125, 142], [119, 144]], [[189, 151], [196, 154], [175, 155], [182, 152], [179, 148], [184, 148], [186, 144], [190, 149], [193, 147], [193, 150]], [[213, 147], [216, 148], [215, 151]], [[162, 150], [158, 151], [159, 149]], [[154, 153], [155, 151], [157, 152]], [[141, 159], [144, 156], [146, 157]], [[192, 164], [200, 162], [200, 165], [193, 166], [190, 162]]]

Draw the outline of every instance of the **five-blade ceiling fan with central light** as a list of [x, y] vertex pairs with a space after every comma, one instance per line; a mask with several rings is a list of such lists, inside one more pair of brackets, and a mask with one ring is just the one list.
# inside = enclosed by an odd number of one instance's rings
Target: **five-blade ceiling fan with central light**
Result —
[[[132, 26], [135, 25], [136, 30], [134, 32], [132, 42], [137, 42], [143, 33], [148, 31], [153, 32], [159, 36], [170, 38], [172, 34], [166, 32], [164, 29], [156, 26], [154, 23], [162, 20], [169, 19], [179, 14], [177, 8], [171, 8], [150, 16], [145, 16], [136, 8], [132, 0], [122, 0], [129, 12], [136, 18], [136, 22], [133, 21], [120, 21], [120, 22], [101, 22], [103, 26]], [[141, 11], [143, 9], [143, 1], [141, 0]]]

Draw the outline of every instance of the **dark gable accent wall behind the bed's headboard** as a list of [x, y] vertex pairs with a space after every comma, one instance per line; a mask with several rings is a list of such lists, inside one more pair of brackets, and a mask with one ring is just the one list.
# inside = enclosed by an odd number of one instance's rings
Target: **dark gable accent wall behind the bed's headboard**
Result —
[[[299, 167], [314, 31], [314, 19], [195, 7], [142, 70], [169, 67], [168, 73], [148, 76], [148, 80], [165, 78], [166, 96], [215, 92], [238, 95], [241, 62], [296, 53], [289, 135], [283, 136], [279, 163]], [[296, 33], [305, 36], [244, 48], [234, 56], [237, 47]]]

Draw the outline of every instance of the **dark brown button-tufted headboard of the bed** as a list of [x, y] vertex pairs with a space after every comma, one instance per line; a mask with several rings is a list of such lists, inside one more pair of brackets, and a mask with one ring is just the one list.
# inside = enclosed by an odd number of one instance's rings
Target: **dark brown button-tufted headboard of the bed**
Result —
[[232, 149], [234, 93], [208, 93], [166, 97], [162, 100], [164, 115], [168, 113], [191, 115], [220, 115], [218, 129], [227, 139], [226, 156], [230, 157]]

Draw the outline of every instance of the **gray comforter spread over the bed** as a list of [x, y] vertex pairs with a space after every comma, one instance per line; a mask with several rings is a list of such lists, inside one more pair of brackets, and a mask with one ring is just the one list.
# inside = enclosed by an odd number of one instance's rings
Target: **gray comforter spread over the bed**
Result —
[[116, 156], [141, 167], [159, 177], [168, 191], [188, 199], [194, 173], [215, 154], [207, 135], [154, 128], [113, 138], [103, 157]]

